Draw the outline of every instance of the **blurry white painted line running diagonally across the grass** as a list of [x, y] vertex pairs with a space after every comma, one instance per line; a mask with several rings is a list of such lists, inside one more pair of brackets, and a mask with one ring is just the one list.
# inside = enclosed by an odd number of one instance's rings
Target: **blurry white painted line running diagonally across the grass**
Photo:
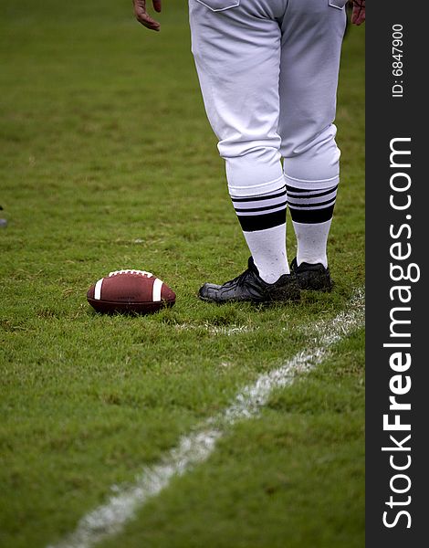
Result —
[[349, 301], [348, 309], [333, 320], [315, 323], [309, 333], [309, 348], [297, 353], [286, 364], [267, 374], [256, 383], [246, 386], [235, 396], [231, 406], [206, 420], [194, 432], [180, 439], [179, 445], [166, 454], [162, 461], [141, 470], [131, 487], [113, 486], [114, 494], [104, 504], [90, 511], [79, 522], [76, 530], [57, 544], [47, 548], [89, 548], [119, 533], [141, 506], [166, 488], [173, 477], [183, 474], [204, 462], [214, 450], [215, 443], [236, 421], [256, 416], [267, 404], [273, 390], [291, 385], [298, 374], [314, 369], [330, 353], [330, 346], [339, 342], [364, 323], [365, 299], [358, 290]]

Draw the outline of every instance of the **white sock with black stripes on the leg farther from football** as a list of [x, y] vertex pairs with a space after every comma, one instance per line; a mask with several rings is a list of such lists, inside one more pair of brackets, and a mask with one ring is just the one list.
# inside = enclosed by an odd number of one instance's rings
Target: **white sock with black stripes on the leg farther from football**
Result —
[[298, 266], [321, 263], [328, 267], [327, 243], [338, 184], [330, 188], [287, 186], [288, 206], [298, 242]]

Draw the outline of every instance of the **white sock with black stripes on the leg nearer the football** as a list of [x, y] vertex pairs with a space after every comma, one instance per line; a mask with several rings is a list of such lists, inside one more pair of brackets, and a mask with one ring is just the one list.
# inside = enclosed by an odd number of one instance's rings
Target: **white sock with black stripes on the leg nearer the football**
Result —
[[231, 196], [259, 276], [274, 283], [289, 274], [286, 252], [286, 186], [264, 195]]

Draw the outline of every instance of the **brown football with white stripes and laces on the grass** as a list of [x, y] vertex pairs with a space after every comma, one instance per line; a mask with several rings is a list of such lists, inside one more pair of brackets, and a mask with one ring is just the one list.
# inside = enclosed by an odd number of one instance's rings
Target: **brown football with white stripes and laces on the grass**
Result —
[[87, 293], [89, 304], [102, 313], [151, 314], [173, 306], [176, 296], [167, 284], [145, 270], [115, 270]]

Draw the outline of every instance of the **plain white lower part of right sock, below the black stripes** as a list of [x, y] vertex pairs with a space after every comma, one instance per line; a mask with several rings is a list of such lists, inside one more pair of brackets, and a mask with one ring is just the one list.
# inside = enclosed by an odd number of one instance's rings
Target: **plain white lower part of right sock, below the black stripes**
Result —
[[321, 263], [325, 269], [328, 267], [326, 246], [331, 222], [332, 219], [316, 224], [304, 224], [292, 221], [298, 241], [298, 266], [302, 262], [307, 262], [313, 265]]

